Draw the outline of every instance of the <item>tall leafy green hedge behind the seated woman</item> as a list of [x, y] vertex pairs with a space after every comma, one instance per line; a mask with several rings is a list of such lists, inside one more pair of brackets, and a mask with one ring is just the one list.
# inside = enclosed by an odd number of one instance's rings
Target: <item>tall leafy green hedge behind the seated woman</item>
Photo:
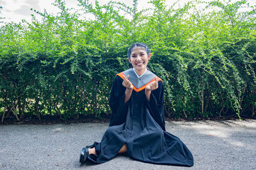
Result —
[[[132, 7], [79, 0], [74, 12], [58, 0], [57, 15], [34, 11], [42, 20], [32, 15], [32, 22], [4, 24], [2, 120], [11, 113], [19, 120], [109, 114], [111, 83], [131, 67], [127, 49], [134, 42], [152, 50], [148, 67], [164, 81], [166, 117], [255, 117], [255, 6], [246, 1], [180, 8], [150, 3], [154, 8], [138, 12], [136, 0]], [[94, 20], [83, 18], [92, 15]]]

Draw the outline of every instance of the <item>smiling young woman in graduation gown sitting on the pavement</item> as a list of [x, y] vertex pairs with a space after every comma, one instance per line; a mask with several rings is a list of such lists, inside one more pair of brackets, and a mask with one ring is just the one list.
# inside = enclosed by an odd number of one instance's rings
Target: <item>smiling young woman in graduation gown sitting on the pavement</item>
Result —
[[115, 76], [109, 97], [111, 120], [100, 143], [81, 150], [80, 162], [103, 163], [118, 153], [142, 162], [193, 166], [193, 155], [179, 138], [165, 131], [163, 81], [147, 69], [150, 49], [134, 43], [131, 69]]

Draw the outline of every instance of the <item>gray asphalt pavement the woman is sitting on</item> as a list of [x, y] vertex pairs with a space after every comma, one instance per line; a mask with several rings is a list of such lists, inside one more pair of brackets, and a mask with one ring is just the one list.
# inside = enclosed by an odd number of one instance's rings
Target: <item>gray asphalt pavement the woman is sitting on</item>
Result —
[[83, 146], [108, 124], [0, 125], [0, 169], [256, 169], [256, 120], [166, 122], [193, 153], [193, 167], [147, 164], [119, 155], [79, 164]]

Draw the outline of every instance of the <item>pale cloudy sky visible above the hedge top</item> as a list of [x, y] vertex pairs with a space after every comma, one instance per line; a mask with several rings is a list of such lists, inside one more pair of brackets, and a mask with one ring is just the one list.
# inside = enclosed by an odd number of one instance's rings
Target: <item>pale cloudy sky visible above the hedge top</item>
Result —
[[[90, 1], [92, 2], [93, 0]], [[98, 1], [100, 4], [105, 4], [108, 2], [106, 0]], [[127, 6], [132, 6], [132, 0], [116, 1], [125, 3]], [[138, 10], [149, 8], [150, 4], [148, 4], [148, 1], [150, 0], [138, 0]], [[166, 0], [166, 4], [173, 4], [175, 1], [176, 0]], [[65, 2], [68, 8], [77, 8], [77, 0], [66, 0]], [[180, 0], [179, 4], [182, 6], [185, 2], [187, 2], [187, 0]], [[31, 21], [31, 14], [33, 14], [33, 11], [30, 10], [31, 8], [35, 9], [36, 11], [43, 12], [44, 9], [46, 9], [48, 13], [56, 13], [58, 8], [53, 6], [52, 3], [54, 3], [54, 0], [0, 0], [0, 6], [2, 7], [2, 9], [0, 9], [0, 17], [4, 17], [4, 22], [21, 22], [22, 19]], [[255, 6], [256, 0], [248, 0], [248, 3]]]

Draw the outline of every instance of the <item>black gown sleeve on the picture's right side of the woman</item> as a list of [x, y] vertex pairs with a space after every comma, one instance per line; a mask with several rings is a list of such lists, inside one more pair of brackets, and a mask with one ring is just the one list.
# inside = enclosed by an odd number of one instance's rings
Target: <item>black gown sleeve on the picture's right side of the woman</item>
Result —
[[146, 104], [150, 115], [156, 120], [157, 124], [165, 131], [164, 122], [164, 85], [163, 81], [158, 81], [158, 89], [152, 90], [150, 101], [146, 97]]

